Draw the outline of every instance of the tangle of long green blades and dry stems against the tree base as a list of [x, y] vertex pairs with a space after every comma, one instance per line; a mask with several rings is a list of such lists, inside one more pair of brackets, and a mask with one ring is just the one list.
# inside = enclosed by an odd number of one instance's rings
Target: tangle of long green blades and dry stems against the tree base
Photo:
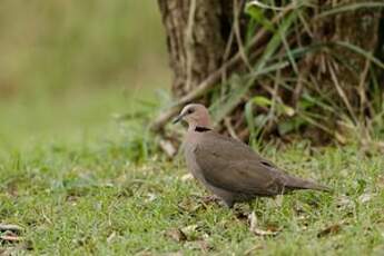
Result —
[[[373, 51], [352, 42], [313, 35], [316, 26], [326, 19], [382, 8], [383, 3], [322, 3], [318, 8], [311, 1], [283, 1], [279, 4], [274, 1], [249, 1], [246, 4], [249, 22], [244, 49], [249, 49], [252, 38], [260, 31], [268, 33], [269, 39], [257, 45], [255, 52], [260, 53], [250, 61], [250, 70], [234, 75], [236, 79], [221, 85], [229, 89], [224, 89], [226, 93], [221, 89], [220, 96], [215, 97], [215, 120], [219, 122], [236, 107], [244, 106], [253, 142], [270, 132], [267, 130], [270, 128], [285, 136], [307, 127], [315, 127], [342, 144], [383, 139], [380, 127], [384, 90], [382, 80], [378, 80], [384, 70], [383, 61]], [[354, 62], [345, 53], [339, 55], [341, 49], [365, 61], [368, 72], [357, 69], [357, 60]], [[247, 53], [252, 58], [254, 52], [248, 50]], [[321, 71], [306, 70], [309, 62]], [[358, 77], [360, 85], [341, 86], [338, 76], [343, 76], [342, 70]], [[242, 86], [234, 86], [238, 81]], [[344, 124], [343, 128], [337, 127], [339, 124]]]

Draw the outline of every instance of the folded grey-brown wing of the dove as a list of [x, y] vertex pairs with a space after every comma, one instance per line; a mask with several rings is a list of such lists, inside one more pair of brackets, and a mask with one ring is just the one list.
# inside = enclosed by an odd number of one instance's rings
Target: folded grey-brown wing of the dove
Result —
[[276, 195], [284, 189], [285, 174], [235, 139], [206, 132], [195, 154], [204, 178], [216, 187], [255, 195]]

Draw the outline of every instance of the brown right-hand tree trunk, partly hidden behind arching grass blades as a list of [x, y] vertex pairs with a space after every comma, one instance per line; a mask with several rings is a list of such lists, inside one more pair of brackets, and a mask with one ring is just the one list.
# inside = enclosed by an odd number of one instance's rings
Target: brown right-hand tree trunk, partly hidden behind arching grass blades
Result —
[[[318, 7], [321, 12], [323, 8], [329, 9], [329, 7], [334, 6], [357, 2], [360, 1], [319, 0]], [[383, 43], [378, 41], [378, 36], [384, 33], [384, 31], [380, 31], [380, 21], [382, 17], [383, 12], [380, 8], [357, 9], [355, 11], [347, 11], [329, 17], [315, 23], [315, 36], [313, 40], [318, 42], [346, 42], [374, 56], [378, 45]], [[338, 83], [339, 88], [345, 92], [345, 99], [342, 99], [344, 105], [351, 105], [346, 106], [349, 108], [349, 114], [353, 108], [363, 109], [367, 100], [364, 92], [368, 86], [367, 77], [370, 67], [372, 66], [371, 61], [366, 57], [344, 47], [336, 47], [333, 49], [333, 55], [337, 56], [339, 60], [337, 63], [335, 61], [334, 65], [328, 62], [328, 65], [324, 66], [324, 62], [322, 63], [324, 58], [318, 58], [312, 66], [313, 68], [323, 66], [323, 70], [322, 68], [317, 68], [316, 71], [312, 69], [312, 73], [317, 77], [318, 83], [323, 83], [328, 88], [335, 88], [335, 83]], [[343, 93], [337, 89], [333, 90], [333, 92], [335, 95]]]

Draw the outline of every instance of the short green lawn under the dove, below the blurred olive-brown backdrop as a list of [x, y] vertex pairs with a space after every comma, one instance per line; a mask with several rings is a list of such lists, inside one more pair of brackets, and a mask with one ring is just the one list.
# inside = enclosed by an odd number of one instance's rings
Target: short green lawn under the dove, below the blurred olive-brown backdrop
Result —
[[[154, 149], [142, 117], [120, 120], [144, 104], [114, 91], [2, 106], [0, 223], [22, 230], [11, 234], [20, 242], [2, 240], [0, 252], [383, 255], [380, 152], [266, 144], [264, 156], [334, 193], [298, 191], [228, 209], [207, 200], [181, 157], [170, 161]], [[145, 106], [150, 116], [154, 107]]]

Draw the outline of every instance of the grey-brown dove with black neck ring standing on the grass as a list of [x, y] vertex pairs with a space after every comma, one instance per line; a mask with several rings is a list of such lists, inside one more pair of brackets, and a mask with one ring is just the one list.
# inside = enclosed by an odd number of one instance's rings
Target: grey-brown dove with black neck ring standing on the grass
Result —
[[185, 106], [173, 122], [181, 120], [188, 124], [184, 139], [188, 171], [228, 208], [296, 189], [331, 191], [326, 186], [289, 175], [248, 145], [216, 132], [204, 105]]

